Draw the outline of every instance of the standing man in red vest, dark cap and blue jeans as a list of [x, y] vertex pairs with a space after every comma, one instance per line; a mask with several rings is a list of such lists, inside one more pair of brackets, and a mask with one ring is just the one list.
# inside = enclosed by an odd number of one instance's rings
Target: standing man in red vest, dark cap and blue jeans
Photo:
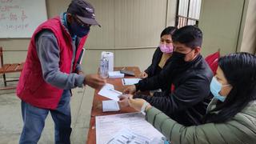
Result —
[[98, 25], [94, 7], [73, 0], [66, 13], [34, 31], [17, 87], [24, 122], [19, 143], [38, 143], [49, 112], [55, 143], [70, 143], [70, 89], [86, 85], [99, 89], [105, 84], [97, 74], [84, 75], [78, 64], [92, 25]]

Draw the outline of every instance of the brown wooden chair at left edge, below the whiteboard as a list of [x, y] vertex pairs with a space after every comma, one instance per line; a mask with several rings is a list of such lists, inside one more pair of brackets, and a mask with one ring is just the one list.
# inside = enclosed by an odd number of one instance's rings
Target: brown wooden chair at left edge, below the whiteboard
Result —
[[18, 79], [14, 80], [6, 80], [6, 74], [8, 73], [15, 73], [15, 72], [21, 72], [24, 66], [24, 62], [21, 63], [6, 63], [3, 62], [3, 51], [2, 46], [0, 46], [0, 58], [1, 58], [1, 67], [0, 67], [0, 74], [2, 74], [4, 86], [0, 88], [0, 90], [10, 90], [15, 89], [15, 86], [7, 87], [7, 82], [15, 82], [18, 81]]

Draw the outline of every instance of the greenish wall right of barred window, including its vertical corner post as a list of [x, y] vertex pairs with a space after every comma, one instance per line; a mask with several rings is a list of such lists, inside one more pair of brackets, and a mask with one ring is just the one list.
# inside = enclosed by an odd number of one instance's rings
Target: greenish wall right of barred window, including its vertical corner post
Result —
[[204, 34], [202, 54], [255, 53], [255, 0], [202, 0], [199, 27]]

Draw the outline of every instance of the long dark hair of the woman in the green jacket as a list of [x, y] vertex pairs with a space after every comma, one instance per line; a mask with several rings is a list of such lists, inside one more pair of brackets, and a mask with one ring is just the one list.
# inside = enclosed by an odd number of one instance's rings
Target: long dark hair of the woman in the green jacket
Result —
[[[226, 122], [256, 99], [256, 56], [248, 53], [226, 55], [219, 59], [222, 69], [232, 89], [224, 102], [217, 102], [214, 110], [206, 114], [205, 122]], [[218, 111], [218, 114], [212, 112]]]

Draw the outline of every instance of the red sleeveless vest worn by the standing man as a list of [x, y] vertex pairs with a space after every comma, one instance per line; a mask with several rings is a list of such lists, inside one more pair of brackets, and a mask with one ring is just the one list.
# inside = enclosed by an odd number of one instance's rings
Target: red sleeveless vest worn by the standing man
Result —
[[26, 56], [26, 63], [23, 67], [17, 86], [17, 95], [23, 101], [32, 106], [54, 110], [58, 106], [58, 102], [62, 97], [63, 90], [55, 86], [51, 86], [42, 78], [42, 68], [35, 47], [36, 34], [38, 34], [38, 32], [41, 30], [46, 29], [51, 30], [57, 38], [58, 48], [60, 51], [60, 59], [58, 63], [59, 69], [66, 74], [70, 74], [71, 70], [74, 72], [75, 65], [78, 62], [79, 54], [82, 51], [82, 46], [86, 42], [87, 35], [81, 38], [78, 44], [78, 49], [72, 68], [72, 38], [62, 25], [59, 17], [49, 19], [38, 26], [30, 40], [30, 46]]

